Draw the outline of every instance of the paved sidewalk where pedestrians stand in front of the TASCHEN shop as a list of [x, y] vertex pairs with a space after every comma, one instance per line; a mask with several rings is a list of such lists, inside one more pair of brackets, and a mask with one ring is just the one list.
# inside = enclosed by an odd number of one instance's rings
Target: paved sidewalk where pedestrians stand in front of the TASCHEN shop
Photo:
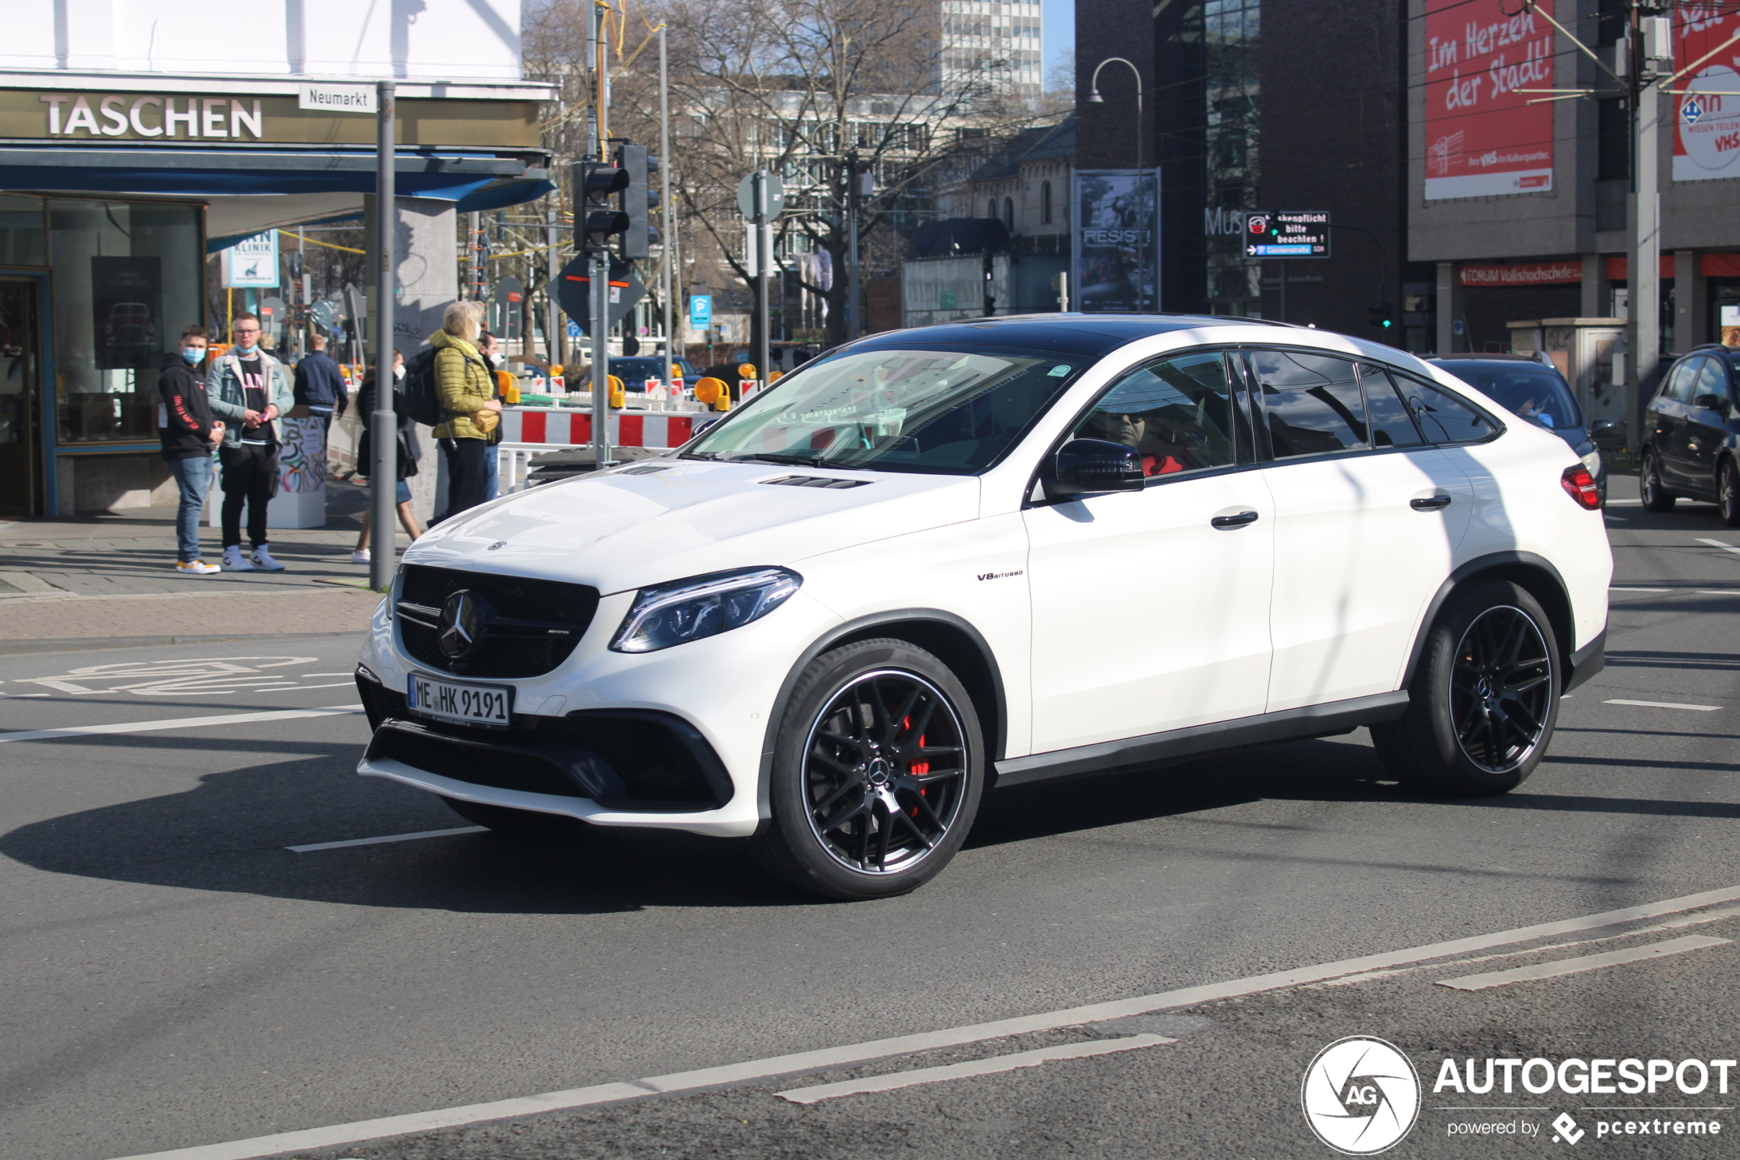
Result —
[[[364, 631], [381, 600], [350, 562], [364, 489], [327, 487], [324, 529], [271, 530], [282, 572], [177, 574], [174, 508], [0, 522], [0, 652]], [[218, 541], [200, 529], [207, 563]]]

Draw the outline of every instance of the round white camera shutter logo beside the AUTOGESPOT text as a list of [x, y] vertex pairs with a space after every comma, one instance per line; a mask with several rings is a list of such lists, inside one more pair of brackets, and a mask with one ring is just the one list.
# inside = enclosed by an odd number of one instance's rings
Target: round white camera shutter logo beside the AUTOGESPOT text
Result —
[[1420, 1118], [1420, 1073], [1395, 1045], [1350, 1035], [1305, 1068], [1300, 1103], [1317, 1139], [1369, 1157], [1401, 1143]]

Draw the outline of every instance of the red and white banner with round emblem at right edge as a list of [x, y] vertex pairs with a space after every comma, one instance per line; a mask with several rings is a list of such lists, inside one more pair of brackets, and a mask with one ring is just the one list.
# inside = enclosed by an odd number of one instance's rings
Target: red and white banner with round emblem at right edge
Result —
[[1691, 70], [1674, 85], [1674, 181], [1740, 177], [1740, 12], [1683, 3], [1672, 21], [1674, 71]]

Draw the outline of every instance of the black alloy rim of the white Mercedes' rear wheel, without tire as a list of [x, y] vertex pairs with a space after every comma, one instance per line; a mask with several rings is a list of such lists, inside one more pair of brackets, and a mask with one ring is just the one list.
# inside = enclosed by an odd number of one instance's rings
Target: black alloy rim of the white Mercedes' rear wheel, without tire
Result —
[[1521, 609], [1486, 609], [1462, 635], [1449, 680], [1456, 743], [1489, 774], [1509, 774], [1540, 744], [1552, 706], [1552, 656]]

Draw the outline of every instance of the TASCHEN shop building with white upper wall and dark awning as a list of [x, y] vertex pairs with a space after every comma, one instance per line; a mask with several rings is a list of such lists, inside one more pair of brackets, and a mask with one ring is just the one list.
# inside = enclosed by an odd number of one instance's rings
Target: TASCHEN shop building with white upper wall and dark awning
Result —
[[[376, 117], [362, 108], [376, 78], [395, 80], [400, 97], [395, 330], [407, 346], [458, 296], [454, 214], [550, 190], [538, 137], [548, 90], [519, 80], [517, 2], [412, 21], [278, 0], [235, 26], [198, 5], [24, 0], [7, 19], [0, 511], [10, 515], [169, 499], [157, 376], [181, 329], [207, 322], [219, 268], [207, 254], [376, 210]], [[235, 35], [214, 42], [224, 26]], [[282, 282], [263, 273], [263, 289]]]

